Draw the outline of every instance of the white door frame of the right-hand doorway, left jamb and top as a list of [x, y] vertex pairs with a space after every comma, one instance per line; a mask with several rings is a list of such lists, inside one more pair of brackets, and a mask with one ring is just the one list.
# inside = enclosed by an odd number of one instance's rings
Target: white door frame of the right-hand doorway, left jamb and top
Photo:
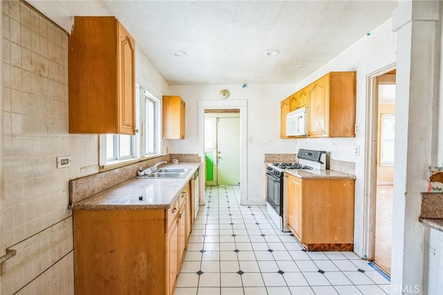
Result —
[[[378, 109], [379, 76], [397, 69], [390, 64], [366, 76], [366, 114], [365, 114], [365, 172], [364, 172], [364, 210], [363, 210], [363, 258], [374, 260], [375, 253], [375, 211], [377, 205], [377, 148], [378, 148]], [[384, 81], [388, 82], [388, 79]], [[392, 82], [392, 80], [390, 80]], [[395, 165], [395, 163], [394, 163]], [[394, 181], [395, 185], [395, 181]]]

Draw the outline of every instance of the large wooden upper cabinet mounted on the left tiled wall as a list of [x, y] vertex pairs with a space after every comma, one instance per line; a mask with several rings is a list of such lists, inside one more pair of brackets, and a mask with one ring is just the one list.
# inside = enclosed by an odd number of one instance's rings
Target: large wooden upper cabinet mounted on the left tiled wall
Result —
[[75, 17], [69, 37], [69, 132], [134, 134], [135, 42], [115, 17]]

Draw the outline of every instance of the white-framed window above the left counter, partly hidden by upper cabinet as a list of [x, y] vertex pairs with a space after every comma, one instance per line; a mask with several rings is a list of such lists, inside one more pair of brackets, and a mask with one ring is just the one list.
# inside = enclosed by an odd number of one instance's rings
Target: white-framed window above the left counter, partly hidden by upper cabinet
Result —
[[161, 102], [137, 85], [135, 135], [100, 134], [100, 166], [160, 153]]

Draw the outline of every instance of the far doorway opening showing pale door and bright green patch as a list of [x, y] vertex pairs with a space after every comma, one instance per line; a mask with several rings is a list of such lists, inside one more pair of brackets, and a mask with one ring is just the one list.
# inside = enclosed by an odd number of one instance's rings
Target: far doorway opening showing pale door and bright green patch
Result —
[[206, 184], [240, 184], [239, 109], [205, 110]]

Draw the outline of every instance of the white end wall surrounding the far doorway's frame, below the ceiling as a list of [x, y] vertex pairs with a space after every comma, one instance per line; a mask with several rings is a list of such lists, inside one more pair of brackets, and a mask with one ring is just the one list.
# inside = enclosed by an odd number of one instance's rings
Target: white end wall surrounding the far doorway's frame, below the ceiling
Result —
[[186, 102], [186, 138], [164, 141], [171, 153], [201, 151], [197, 134], [197, 101], [220, 100], [219, 91], [228, 89], [227, 100], [248, 100], [248, 204], [264, 204], [264, 154], [295, 153], [295, 142], [280, 139], [280, 100], [295, 92], [294, 85], [186, 85], [171, 86], [171, 95], [179, 95]]

